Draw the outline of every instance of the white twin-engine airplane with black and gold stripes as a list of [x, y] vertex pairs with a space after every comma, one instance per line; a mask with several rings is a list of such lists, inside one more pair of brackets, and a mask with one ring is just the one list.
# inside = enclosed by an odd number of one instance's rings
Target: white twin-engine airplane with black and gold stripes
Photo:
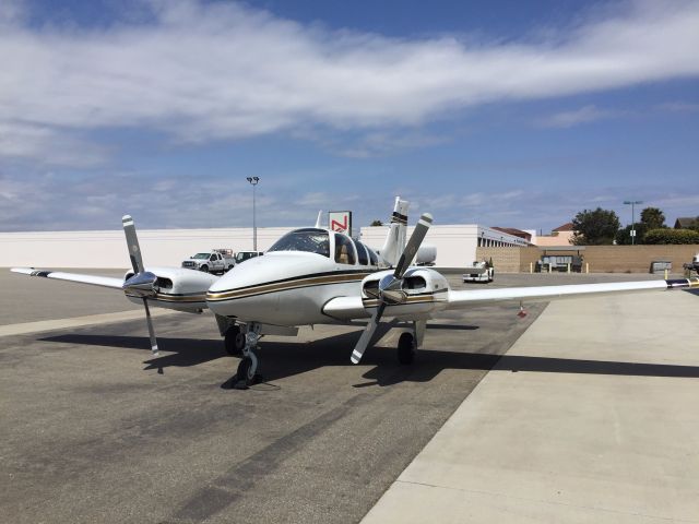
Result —
[[[250, 259], [221, 277], [180, 267], [144, 267], [133, 219], [123, 229], [133, 271], [123, 279], [84, 274], [12, 269], [16, 273], [122, 289], [129, 300], [143, 303], [157, 355], [149, 306], [202, 312], [216, 318], [226, 350], [242, 354], [237, 386], [256, 380], [258, 341], [263, 334], [295, 335], [300, 325], [348, 323], [369, 318], [351, 360], [359, 362], [383, 318], [412, 323], [401, 334], [398, 358], [412, 364], [425, 335], [426, 321], [448, 309], [466, 309], [502, 301], [548, 301], [585, 295], [699, 287], [699, 278], [565, 286], [453, 290], [434, 269], [411, 266], [431, 225], [420, 216], [406, 239], [408, 203], [395, 199], [391, 226], [380, 255], [358, 240], [320, 227], [293, 230], [264, 257]], [[387, 269], [388, 267], [388, 269]]]

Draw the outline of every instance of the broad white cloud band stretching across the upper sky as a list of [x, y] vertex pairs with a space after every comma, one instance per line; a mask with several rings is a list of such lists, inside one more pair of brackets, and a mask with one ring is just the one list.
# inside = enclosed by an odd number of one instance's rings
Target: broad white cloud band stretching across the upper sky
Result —
[[[153, 0], [144, 3], [149, 22], [90, 29], [24, 24], [21, 4], [8, 5], [0, 133], [23, 122], [31, 143], [5, 144], [2, 156], [35, 158], [49, 135], [71, 141], [75, 131], [105, 128], [194, 143], [309, 126], [382, 130], [484, 103], [699, 74], [697, 2], [632, 2], [505, 44], [329, 31], [229, 2]], [[394, 136], [375, 134], [346, 153], [401, 146]]]

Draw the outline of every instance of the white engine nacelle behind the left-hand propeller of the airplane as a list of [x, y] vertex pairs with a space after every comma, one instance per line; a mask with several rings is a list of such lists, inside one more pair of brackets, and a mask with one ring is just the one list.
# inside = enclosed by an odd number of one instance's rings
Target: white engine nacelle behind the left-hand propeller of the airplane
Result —
[[[181, 267], [146, 267], [143, 274], [145, 273], [152, 273], [156, 277], [151, 289], [145, 289], [145, 286], [138, 289], [125, 286], [129, 300], [141, 302], [143, 298], [147, 298], [152, 306], [190, 312], [206, 308], [206, 291], [218, 279], [210, 273]], [[133, 275], [133, 271], [127, 272], [125, 282]]]

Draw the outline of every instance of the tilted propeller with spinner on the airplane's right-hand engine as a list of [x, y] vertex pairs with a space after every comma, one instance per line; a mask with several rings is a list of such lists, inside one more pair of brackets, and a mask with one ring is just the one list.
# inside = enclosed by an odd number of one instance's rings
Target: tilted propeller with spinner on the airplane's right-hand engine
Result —
[[417, 226], [415, 226], [413, 235], [411, 235], [411, 239], [407, 241], [407, 245], [403, 250], [403, 254], [401, 254], [401, 258], [395, 265], [395, 271], [393, 271], [392, 274], [389, 273], [379, 281], [379, 289], [376, 294], [379, 299], [379, 307], [376, 309], [374, 315], [371, 315], [371, 320], [367, 323], [357, 345], [354, 346], [351, 357], [352, 364], [359, 364], [364, 352], [369, 345], [371, 336], [374, 336], [374, 332], [379, 325], [386, 307], [403, 303], [407, 299], [407, 294], [403, 290], [403, 276], [405, 276], [405, 272], [415, 258], [419, 246], [423, 243], [423, 240], [425, 240], [425, 235], [427, 235], [427, 230], [431, 224], [433, 215], [429, 213], [425, 213], [419, 217]]

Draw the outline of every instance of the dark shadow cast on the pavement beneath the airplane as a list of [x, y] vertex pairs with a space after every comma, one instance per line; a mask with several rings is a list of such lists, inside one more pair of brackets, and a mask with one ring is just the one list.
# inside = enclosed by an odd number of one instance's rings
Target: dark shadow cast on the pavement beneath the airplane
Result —
[[[282, 380], [325, 366], [351, 367], [353, 365], [350, 362], [350, 354], [358, 336], [359, 332], [352, 332], [313, 342], [262, 342], [258, 355], [264, 381]], [[68, 334], [40, 341], [149, 350], [145, 347], [147, 340], [142, 336]], [[167, 355], [145, 360], [146, 370], [191, 367], [218, 358], [230, 358], [232, 370], [235, 371], [237, 368], [238, 358], [229, 357], [218, 340], [161, 337], [158, 344], [161, 352]], [[367, 382], [354, 384], [355, 388], [386, 386], [405, 381], [427, 382], [445, 369], [489, 371], [496, 365], [499, 371], [511, 372], [699, 378], [699, 367], [696, 366], [493, 355], [437, 350], [429, 347], [418, 352], [413, 366], [401, 366], [396, 362], [395, 348], [375, 346], [367, 350], [362, 360], [362, 366], [367, 365], [372, 366], [363, 376]]]

